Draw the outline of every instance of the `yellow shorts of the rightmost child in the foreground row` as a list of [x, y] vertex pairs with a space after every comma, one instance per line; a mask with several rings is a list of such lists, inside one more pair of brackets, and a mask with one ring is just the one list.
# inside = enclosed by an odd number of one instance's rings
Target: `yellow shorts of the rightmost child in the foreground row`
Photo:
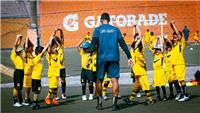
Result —
[[185, 74], [186, 74], [186, 68], [185, 65], [175, 65], [174, 70], [176, 73], [176, 76], [178, 78], [178, 81], [183, 81], [185, 80]]

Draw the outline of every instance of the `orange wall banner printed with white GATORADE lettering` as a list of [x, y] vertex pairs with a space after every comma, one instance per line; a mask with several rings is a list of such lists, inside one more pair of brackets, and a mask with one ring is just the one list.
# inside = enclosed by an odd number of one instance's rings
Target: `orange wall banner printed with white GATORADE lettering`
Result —
[[175, 20], [179, 30], [185, 25], [192, 33], [200, 29], [199, 2], [147, 2], [147, 1], [109, 1], [109, 2], [40, 2], [40, 30], [45, 44], [56, 27], [62, 28], [65, 47], [75, 47], [87, 34], [93, 34], [100, 23], [100, 16], [110, 14], [110, 24], [126, 33], [127, 43], [132, 42], [133, 25], [140, 26], [142, 35], [149, 29], [155, 35], [163, 32], [171, 36], [169, 23]]

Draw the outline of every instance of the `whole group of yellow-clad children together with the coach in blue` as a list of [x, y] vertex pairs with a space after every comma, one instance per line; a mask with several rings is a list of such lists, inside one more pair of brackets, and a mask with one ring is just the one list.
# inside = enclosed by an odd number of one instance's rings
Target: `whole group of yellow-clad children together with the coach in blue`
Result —
[[[148, 46], [153, 53], [153, 86], [156, 89], [157, 101], [175, 99], [177, 101], [189, 100], [187, 93], [185, 76], [186, 66], [184, 61], [185, 41], [182, 33], [176, 28], [175, 22], [171, 22], [173, 30], [172, 38], [166, 34], [154, 36], [153, 32], [147, 30], [143, 35], [139, 26], [134, 25], [133, 42], [129, 51], [124, 37], [120, 30], [109, 25], [110, 17], [108, 13], [101, 15], [101, 23], [94, 30], [92, 38], [87, 36], [77, 45], [77, 50], [81, 56], [81, 86], [82, 100], [93, 100], [97, 98], [96, 109], [102, 109], [102, 99], [107, 100], [106, 89], [112, 83], [113, 105], [112, 110], [120, 109], [117, 105], [119, 95], [119, 46], [128, 58], [131, 66], [132, 93], [124, 101], [133, 104], [137, 93], [142, 90], [147, 97], [147, 104], [154, 104], [155, 100], [151, 96], [150, 84], [147, 75], [145, 62], [145, 47]], [[59, 32], [59, 36], [58, 36]], [[41, 76], [43, 71], [42, 57], [46, 56], [48, 63], [48, 86], [49, 91], [45, 98], [47, 105], [59, 104], [57, 91], [59, 81], [61, 82], [62, 99], [66, 99], [66, 72], [64, 66], [64, 34], [61, 29], [56, 30], [50, 36], [46, 46], [37, 46], [34, 49], [32, 42], [26, 38], [24, 46], [21, 46], [22, 35], [16, 38], [15, 46], [11, 52], [11, 60], [15, 65], [13, 100], [14, 107], [31, 105], [32, 109], [39, 109], [39, 94], [41, 92]], [[172, 39], [172, 40], [170, 40]], [[86, 96], [86, 86], [89, 87], [89, 98]], [[166, 93], [166, 85], [169, 84], [169, 97]], [[176, 96], [173, 92], [176, 89]], [[22, 97], [24, 87], [25, 97]], [[30, 91], [33, 92], [33, 100], [30, 99]], [[160, 93], [162, 89], [162, 96]]]

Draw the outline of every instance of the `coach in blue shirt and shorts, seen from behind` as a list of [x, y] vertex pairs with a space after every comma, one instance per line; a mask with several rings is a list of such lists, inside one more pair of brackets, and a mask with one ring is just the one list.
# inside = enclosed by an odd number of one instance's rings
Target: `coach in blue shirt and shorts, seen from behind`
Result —
[[97, 45], [97, 109], [102, 109], [102, 82], [105, 73], [111, 78], [112, 81], [112, 91], [113, 91], [113, 105], [112, 110], [116, 111], [119, 109], [117, 106], [117, 97], [119, 93], [119, 82], [120, 77], [120, 55], [119, 55], [119, 45], [126, 53], [128, 57], [129, 65], [132, 64], [131, 54], [129, 49], [122, 37], [120, 30], [109, 24], [110, 16], [108, 13], [103, 13], [101, 15], [102, 25], [94, 30], [93, 38], [90, 46], [90, 52], [95, 50]]

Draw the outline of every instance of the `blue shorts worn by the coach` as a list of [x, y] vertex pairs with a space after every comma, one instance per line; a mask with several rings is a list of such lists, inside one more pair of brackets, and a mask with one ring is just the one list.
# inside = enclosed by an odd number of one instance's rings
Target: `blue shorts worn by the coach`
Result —
[[108, 78], [119, 78], [119, 62], [98, 60], [97, 79], [103, 79], [105, 73], [107, 73]]

